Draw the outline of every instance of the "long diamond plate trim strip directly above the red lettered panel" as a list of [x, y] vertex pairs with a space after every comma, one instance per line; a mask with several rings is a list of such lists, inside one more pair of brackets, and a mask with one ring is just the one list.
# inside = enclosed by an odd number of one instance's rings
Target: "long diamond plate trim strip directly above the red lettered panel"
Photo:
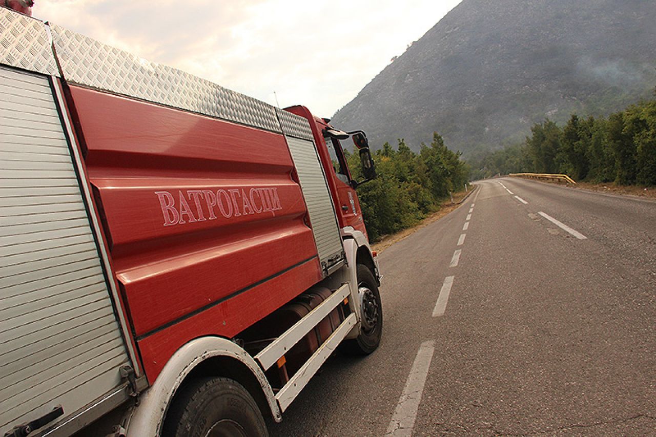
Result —
[[51, 28], [66, 81], [281, 133], [274, 106], [61, 26]]

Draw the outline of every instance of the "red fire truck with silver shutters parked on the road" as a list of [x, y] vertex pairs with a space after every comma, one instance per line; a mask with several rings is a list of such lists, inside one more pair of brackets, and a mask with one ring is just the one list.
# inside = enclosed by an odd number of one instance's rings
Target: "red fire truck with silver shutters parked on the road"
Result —
[[263, 435], [377, 348], [363, 132], [4, 7], [0, 64], [0, 432]]

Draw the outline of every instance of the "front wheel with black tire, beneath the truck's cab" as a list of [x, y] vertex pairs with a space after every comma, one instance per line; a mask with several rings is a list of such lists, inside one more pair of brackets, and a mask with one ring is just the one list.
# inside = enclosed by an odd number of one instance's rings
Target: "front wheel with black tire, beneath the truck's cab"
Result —
[[364, 264], [358, 264], [358, 289], [363, 293], [360, 333], [355, 339], [344, 341], [340, 348], [350, 355], [369, 355], [378, 348], [382, 337], [382, 302], [373, 273]]

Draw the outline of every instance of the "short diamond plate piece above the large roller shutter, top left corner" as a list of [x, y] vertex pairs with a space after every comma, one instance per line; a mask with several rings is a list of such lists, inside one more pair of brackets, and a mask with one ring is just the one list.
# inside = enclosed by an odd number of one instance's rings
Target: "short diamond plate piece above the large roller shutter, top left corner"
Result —
[[0, 7], [0, 64], [59, 77], [45, 24]]

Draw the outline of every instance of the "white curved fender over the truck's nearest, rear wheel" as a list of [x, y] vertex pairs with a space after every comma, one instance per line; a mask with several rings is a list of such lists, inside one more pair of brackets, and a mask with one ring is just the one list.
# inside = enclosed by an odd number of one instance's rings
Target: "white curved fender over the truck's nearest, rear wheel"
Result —
[[281, 421], [282, 413], [274, 392], [253, 357], [227, 339], [201, 337], [178, 349], [159, 373], [155, 383], [140, 396], [127, 427], [127, 436], [159, 436], [176, 390], [194, 367], [217, 356], [233, 358], [248, 367], [262, 386], [272, 417], [276, 422]]

